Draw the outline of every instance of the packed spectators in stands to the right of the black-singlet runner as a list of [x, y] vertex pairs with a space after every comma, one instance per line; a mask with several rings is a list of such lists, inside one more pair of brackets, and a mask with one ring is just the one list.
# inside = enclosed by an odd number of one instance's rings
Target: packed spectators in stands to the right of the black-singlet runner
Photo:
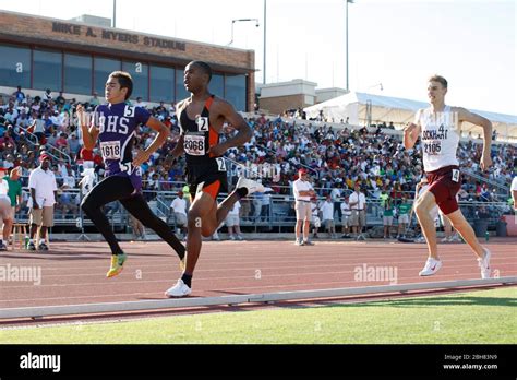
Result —
[[[384, 128], [334, 130], [324, 123], [305, 120], [268, 120], [264, 116], [248, 120], [254, 138], [243, 147], [232, 149], [229, 157], [251, 167], [266, 170], [275, 166], [279, 180], [272, 187], [278, 193], [289, 193], [289, 183], [300, 166], [310, 168], [314, 187], [324, 197], [334, 188], [351, 191], [356, 182], [378, 198], [387, 191], [397, 199], [402, 192], [413, 192], [422, 176], [421, 146], [405, 150], [398, 135], [385, 134]], [[371, 131], [371, 132], [370, 132]], [[517, 149], [510, 144], [493, 145], [493, 166], [479, 171], [482, 145], [472, 141], [461, 142], [458, 150], [461, 167], [471, 169], [491, 181], [510, 182], [513, 158]], [[464, 189], [474, 200], [495, 200], [495, 189], [486, 182], [464, 176]]]

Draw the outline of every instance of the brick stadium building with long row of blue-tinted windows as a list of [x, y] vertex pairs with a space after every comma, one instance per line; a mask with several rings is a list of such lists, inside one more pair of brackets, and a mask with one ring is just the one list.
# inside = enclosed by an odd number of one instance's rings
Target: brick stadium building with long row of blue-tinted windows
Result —
[[50, 88], [65, 98], [87, 100], [104, 95], [108, 74], [131, 73], [132, 98], [179, 102], [184, 66], [208, 62], [214, 75], [211, 91], [240, 111], [253, 109], [253, 50], [112, 28], [108, 19], [82, 16], [71, 21], [0, 11], [0, 93], [22, 86], [26, 94]]

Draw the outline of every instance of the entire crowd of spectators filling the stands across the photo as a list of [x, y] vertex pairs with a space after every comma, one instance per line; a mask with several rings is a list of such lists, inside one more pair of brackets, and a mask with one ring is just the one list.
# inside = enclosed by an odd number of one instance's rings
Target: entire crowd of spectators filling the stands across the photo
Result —
[[[99, 104], [97, 94], [85, 104], [93, 111]], [[26, 96], [19, 90], [10, 96], [0, 96], [0, 166], [22, 167], [24, 186], [32, 169], [37, 167], [41, 152], [50, 153], [55, 159], [52, 170], [61, 189], [77, 189], [83, 163], [88, 161], [97, 173], [103, 173], [103, 159], [98, 150], [88, 152], [82, 147], [80, 130], [75, 123], [77, 100], [65, 99], [62, 93], [47, 90], [41, 96]], [[133, 105], [145, 106], [137, 98]], [[167, 142], [142, 166], [144, 190], [147, 200], [154, 199], [159, 190], [177, 190], [184, 181], [184, 157], [172, 161], [167, 157], [179, 136], [175, 104], [161, 102], [149, 109], [171, 129]], [[306, 120], [302, 110], [292, 110], [289, 118], [267, 119], [264, 115], [250, 117], [247, 121], [254, 131], [253, 139], [241, 147], [227, 152], [235, 163], [229, 165], [230, 179], [243, 167], [248, 175], [263, 176], [263, 182], [272, 193], [290, 194], [290, 185], [297, 178], [300, 167], [309, 169], [314, 188], [320, 197], [338, 189], [341, 195], [350, 193], [354, 183], [360, 183], [369, 197], [380, 198], [384, 191], [396, 201], [405, 192], [413, 192], [422, 176], [421, 146], [405, 150], [400, 135], [386, 134], [393, 123], [384, 122], [374, 129], [352, 129], [348, 119], [341, 120], [342, 128], [326, 126], [325, 122]], [[341, 126], [340, 126], [341, 127]], [[231, 126], [224, 129], [223, 139], [233, 135]], [[146, 149], [155, 132], [143, 127], [135, 138], [135, 149]], [[492, 147], [493, 166], [485, 173], [479, 171], [482, 145], [471, 140], [461, 142], [458, 155], [464, 168], [471, 169], [493, 182], [509, 183], [513, 177], [513, 161], [517, 149], [512, 144]], [[63, 213], [75, 217], [79, 197], [62, 192], [60, 207]], [[412, 194], [409, 197], [412, 198]], [[495, 187], [484, 181], [464, 176], [460, 200], [503, 200]], [[503, 197], [504, 198], [504, 197]], [[263, 204], [264, 205], [264, 204]], [[243, 204], [242, 209], [247, 209]], [[242, 212], [242, 210], [241, 210]], [[264, 210], [253, 211], [256, 217], [265, 216]]]

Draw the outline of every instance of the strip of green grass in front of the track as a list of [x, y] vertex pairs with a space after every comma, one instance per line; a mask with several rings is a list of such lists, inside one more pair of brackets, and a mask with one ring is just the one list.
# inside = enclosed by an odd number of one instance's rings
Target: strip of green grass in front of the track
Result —
[[0, 330], [4, 344], [517, 343], [517, 288]]

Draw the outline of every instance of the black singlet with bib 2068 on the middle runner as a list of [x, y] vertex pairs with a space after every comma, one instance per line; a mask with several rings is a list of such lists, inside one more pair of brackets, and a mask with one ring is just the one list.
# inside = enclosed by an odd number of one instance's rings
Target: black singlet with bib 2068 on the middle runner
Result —
[[181, 134], [184, 136], [183, 149], [188, 165], [208, 164], [216, 158], [207, 153], [211, 146], [219, 143], [219, 133], [209, 123], [209, 109], [213, 102], [214, 95], [211, 95], [195, 120], [189, 118], [187, 107], [181, 110], [179, 121]]

